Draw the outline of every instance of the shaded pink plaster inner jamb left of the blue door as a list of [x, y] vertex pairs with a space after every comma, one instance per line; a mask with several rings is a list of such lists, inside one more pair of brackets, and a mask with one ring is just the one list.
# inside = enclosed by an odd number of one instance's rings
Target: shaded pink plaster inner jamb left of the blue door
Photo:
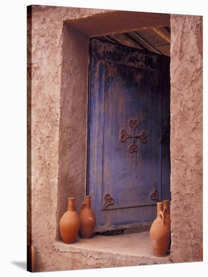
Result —
[[68, 206], [68, 197], [75, 197], [79, 214], [86, 195], [88, 63], [89, 37], [65, 23], [62, 31], [57, 223]]

